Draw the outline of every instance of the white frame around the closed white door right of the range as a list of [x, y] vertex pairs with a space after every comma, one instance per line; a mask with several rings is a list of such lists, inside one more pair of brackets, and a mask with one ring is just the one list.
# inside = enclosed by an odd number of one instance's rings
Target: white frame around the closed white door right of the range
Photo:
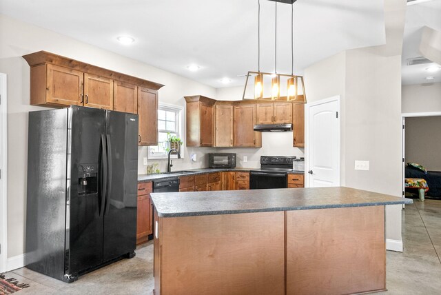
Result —
[[341, 108], [340, 108], [340, 95], [331, 96], [327, 99], [320, 99], [320, 101], [314, 101], [312, 103], [307, 103], [305, 108], [305, 187], [309, 187], [309, 156], [311, 154], [310, 148], [311, 145], [309, 145], [309, 108], [314, 107], [316, 105], [322, 105], [325, 103], [331, 103], [337, 101], [337, 112], [338, 112], [338, 130], [337, 130], [337, 137], [338, 137], [338, 186], [341, 185], [342, 182], [342, 176], [341, 176]]

